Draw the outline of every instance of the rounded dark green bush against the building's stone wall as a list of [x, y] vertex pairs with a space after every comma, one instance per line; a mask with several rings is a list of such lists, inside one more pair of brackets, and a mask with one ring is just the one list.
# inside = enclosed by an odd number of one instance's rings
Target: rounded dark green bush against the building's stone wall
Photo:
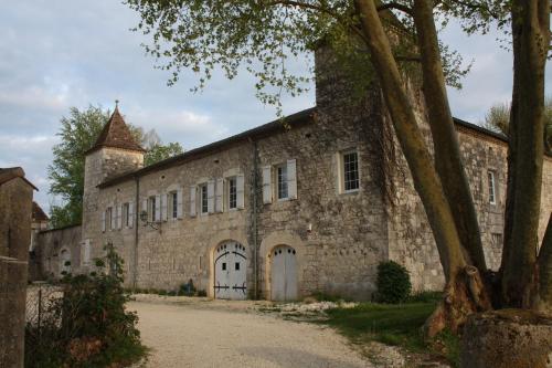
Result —
[[405, 302], [412, 291], [408, 271], [396, 262], [381, 262], [378, 265], [379, 303], [397, 304]]

